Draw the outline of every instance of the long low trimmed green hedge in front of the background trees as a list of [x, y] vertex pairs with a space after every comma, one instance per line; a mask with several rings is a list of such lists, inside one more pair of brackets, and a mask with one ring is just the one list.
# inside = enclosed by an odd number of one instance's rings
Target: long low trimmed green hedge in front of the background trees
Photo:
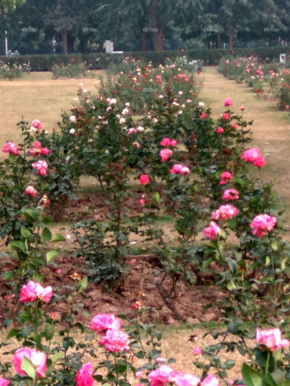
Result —
[[[256, 47], [256, 48], [237, 48], [234, 49], [235, 54], [238, 57], [259, 55], [262, 60], [278, 60], [280, 53], [288, 53], [285, 47]], [[230, 49], [193, 49], [188, 52], [184, 51], [140, 51], [140, 52], [128, 52], [128, 54], [106, 54], [98, 52], [96, 54], [56, 54], [56, 55], [19, 55], [9, 56], [3, 58], [5, 63], [23, 64], [30, 62], [32, 71], [50, 71], [54, 64], [69, 63], [70, 59], [74, 59], [74, 63], [87, 62], [87, 65], [91, 64], [92, 69], [106, 69], [112, 64], [116, 64], [121, 61], [125, 56], [135, 57], [136, 59], [144, 59], [146, 61], [152, 61], [154, 65], [164, 63], [166, 58], [175, 58], [176, 56], [183, 56], [188, 54], [190, 59], [203, 60], [204, 64], [217, 64], [218, 61], [224, 56], [231, 55]], [[100, 58], [96, 63], [96, 59]]]

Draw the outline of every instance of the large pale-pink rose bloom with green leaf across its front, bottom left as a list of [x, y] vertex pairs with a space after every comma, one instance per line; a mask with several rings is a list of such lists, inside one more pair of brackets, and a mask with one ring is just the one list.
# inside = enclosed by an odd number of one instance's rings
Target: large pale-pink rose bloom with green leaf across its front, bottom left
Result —
[[21, 363], [23, 360], [23, 357], [26, 357], [29, 359], [36, 371], [36, 375], [38, 377], [45, 377], [45, 372], [46, 372], [46, 354], [42, 351], [38, 350], [32, 350], [29, 349], [28, 347], [23, 347], [22, 349], [16, 350], [12, 362], [15, 366], [15, 370], [18, 372], [20, 375], [28, 375], [26, 374], [25, 371], [21, 370]]

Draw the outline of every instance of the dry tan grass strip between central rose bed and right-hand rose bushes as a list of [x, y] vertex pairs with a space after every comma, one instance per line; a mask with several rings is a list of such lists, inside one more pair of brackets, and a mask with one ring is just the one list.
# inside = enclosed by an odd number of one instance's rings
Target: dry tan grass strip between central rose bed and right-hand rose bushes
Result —
[[[245, 106], [244, 118], [254, 120], [253, 145], [260, 149], [263, 156], [269, 154], [262, 175], [267, 181], [275, 179], [274, 190], [281, 195], [277, 204], [285, 209], [285, 222], [290, 225], [289, 113], [278, 110], [275, 100], [266, 100], [264, 95], [256, 95], [245, 84], [224, 78], [216, 67], [205, 67], [201, 74], [205, 83], [200, 100], [212, 108], [214, 119], [223, 112], [223, 101], [229, 97], [234, 103], [232, 111], [239, 113], [239, 107]], [[265, 149], [271, 149], [271, 152]]]

